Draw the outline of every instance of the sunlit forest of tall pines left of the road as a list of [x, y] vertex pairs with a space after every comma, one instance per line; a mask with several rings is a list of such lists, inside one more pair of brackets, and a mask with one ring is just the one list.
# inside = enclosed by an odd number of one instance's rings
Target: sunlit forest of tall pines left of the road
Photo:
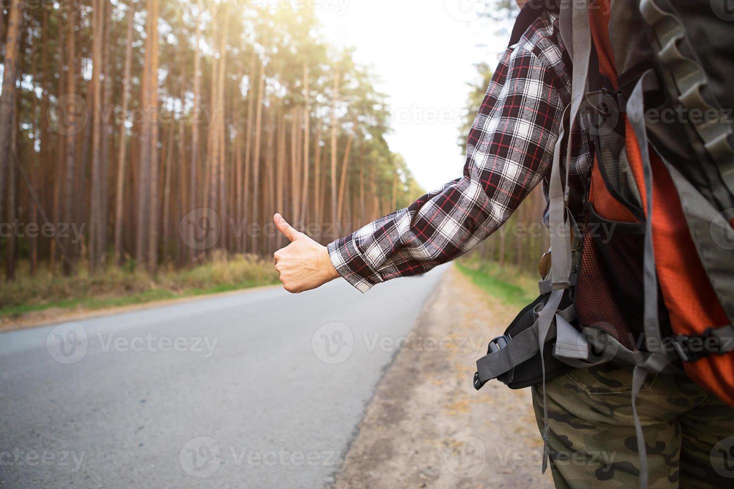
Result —
[[4, 2], [5, 278], [266, 256], [276, 211], [327, 243], [420, 196], [374, 74], [282, 3]]

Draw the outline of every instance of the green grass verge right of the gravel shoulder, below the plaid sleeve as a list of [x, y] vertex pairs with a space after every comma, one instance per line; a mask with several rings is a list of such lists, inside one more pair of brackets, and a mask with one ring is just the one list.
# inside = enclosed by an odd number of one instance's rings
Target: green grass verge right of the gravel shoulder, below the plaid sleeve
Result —
[[512, 265], [465, 257], [457, 261], [459, 271], [489, 295], [510, 306], [524, 307], [538, 296], [538, 279], [532, 273]]

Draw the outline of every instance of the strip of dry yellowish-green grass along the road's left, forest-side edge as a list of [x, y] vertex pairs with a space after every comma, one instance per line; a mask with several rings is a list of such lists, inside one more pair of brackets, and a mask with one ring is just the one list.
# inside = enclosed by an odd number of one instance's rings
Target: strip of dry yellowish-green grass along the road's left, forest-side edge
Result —
[[21, 263], [18, 278], [0, 284], [0, 319], [46, 309], [94, 310], [207, 295], [277, 283], [272, 262], [251, 255], [214, 254], [193, 268], [161, 269], [155, 277], [128, 264], [90, 274], [79, 263], [73, 276], [40, 269], [31, 276]]

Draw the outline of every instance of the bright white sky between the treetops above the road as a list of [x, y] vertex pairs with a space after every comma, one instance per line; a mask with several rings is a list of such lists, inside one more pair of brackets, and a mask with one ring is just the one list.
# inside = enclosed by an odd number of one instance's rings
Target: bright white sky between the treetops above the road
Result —
[[[457, 146], [473, 66], [494, 67], [506, 46], [498, 26], [479, 18], [474, 0], [307, 0], [335, 45], [352, 45], [372, 65], [377, 89], [390, 98], [389, 138], [426, 190], [459, 177]], [[465, 135], [462, 135], [462, 138]]]

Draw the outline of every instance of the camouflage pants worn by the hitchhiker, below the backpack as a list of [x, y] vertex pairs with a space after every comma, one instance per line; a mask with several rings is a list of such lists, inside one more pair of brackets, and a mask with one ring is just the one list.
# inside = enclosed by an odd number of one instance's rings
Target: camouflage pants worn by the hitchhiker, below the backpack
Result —
[[[557, 488], [636, 488], [632, 369], [612, 364], [548, 380]], [[649, 375], [638, 397], [650, 488], [734, 488], [734, 408], [685, 375]], [[542, 430], [542, 385], [533, 388]]]

